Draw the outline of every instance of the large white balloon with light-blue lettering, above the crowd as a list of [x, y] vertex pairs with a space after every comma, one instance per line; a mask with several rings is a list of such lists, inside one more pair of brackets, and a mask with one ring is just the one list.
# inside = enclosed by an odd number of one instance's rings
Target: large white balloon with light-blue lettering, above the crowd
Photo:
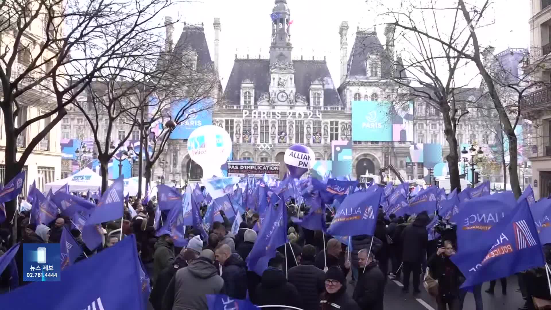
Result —
[[220, 166], [231, 154], [230, 134], [214, 125], [198, 127], [187, 139], [187, 152], [203, 168], [203, 178], [223, 177]]

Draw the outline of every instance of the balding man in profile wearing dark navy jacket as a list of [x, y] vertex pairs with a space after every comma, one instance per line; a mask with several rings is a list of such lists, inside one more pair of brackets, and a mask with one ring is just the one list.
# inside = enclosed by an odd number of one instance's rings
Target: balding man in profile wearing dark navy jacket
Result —
[[228, 244], [220, 244], [214, 256], [222, 266], [222, 279], [226, 295], [235, 299], [245, 299], [247, 296], [247, 264], [239, 254], [231, 253]]

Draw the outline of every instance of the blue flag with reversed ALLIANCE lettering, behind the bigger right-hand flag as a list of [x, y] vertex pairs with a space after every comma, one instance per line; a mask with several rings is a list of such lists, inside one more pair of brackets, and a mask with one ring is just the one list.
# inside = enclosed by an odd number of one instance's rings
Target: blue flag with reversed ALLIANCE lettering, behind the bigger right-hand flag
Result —
[[452, 222], [457, 223], [457, 249], [468, 252], [477, 247], [473, 240], [486, 236], [515, 205], [515, 195], [510, 191], [463, 202], [459, 213], [452, 216]]

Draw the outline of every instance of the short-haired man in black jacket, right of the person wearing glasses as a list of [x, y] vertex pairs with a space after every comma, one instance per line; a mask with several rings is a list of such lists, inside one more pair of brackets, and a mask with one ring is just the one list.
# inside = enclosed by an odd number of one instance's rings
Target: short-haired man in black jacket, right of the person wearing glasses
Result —
[[374, 260], [374, 253], [361, 249], [358, 253], [360, 278], [354, 288], [352, 298], [363, 310], [382, 310], [383, 297], [385, 296], [386, 276], [383, 274], [377, 262]]

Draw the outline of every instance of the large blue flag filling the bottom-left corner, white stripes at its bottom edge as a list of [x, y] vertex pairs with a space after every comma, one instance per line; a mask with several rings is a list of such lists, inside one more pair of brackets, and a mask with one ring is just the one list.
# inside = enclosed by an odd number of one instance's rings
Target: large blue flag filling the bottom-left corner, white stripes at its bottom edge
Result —
[[[136, 298], [141, 291], [138, 266], [136, 238], [132, 235], [61, 271], [62, 281], [48, 285], [33, 282], [0, 295], [0, 304], [6, 309], [34, 309], [37, 301], [43, 310], [145, 309], [143, 299]], [[115, 290], [106, 283], [124, 285], [117, 285]]]

